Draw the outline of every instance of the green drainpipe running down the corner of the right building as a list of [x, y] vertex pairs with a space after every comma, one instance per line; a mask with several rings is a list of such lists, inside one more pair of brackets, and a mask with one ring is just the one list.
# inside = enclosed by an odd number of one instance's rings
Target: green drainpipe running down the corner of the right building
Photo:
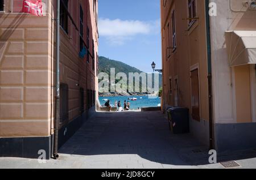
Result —
[[213, 126], [213, 94], [212, 94], [212, 51], [210, 42], [209, 0], [205, 0], [205, 18], [207, 28], [207, 59], [208, 59], [208, 98], [209, 98], [209, 148], [214, 149]]

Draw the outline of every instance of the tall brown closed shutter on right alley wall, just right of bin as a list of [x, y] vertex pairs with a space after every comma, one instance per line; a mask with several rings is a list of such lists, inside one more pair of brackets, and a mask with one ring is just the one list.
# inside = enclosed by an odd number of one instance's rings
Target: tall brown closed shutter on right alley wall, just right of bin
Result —
[[200, 101], [199, 101], [199, 70], [191, 71], [191, 106], [192, 118], [200, 121]]

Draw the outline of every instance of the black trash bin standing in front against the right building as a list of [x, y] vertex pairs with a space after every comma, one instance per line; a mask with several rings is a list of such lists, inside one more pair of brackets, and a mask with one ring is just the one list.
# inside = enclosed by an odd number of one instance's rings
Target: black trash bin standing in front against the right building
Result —
[[189, 133], [189, 109], [174, 107], [167, 110], [170, 130], [174, 134]]

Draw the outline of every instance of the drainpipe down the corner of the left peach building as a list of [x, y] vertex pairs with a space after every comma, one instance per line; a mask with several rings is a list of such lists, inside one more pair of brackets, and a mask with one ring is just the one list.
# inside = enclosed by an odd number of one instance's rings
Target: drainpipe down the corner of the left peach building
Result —
[[56, 13], [56, 88], [55, 88], [55, 121], [54, 121], [54, 142], [53, 158], [58, 155], [58, 132], [60, 122], [60, 0], [57, 0]]

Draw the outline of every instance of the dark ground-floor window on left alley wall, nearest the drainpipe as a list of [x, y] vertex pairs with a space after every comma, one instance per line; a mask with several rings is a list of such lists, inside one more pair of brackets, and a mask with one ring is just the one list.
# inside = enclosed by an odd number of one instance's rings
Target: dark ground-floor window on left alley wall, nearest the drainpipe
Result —
[[68, 84], [60, 84], [60, 128], [68, 122]]

